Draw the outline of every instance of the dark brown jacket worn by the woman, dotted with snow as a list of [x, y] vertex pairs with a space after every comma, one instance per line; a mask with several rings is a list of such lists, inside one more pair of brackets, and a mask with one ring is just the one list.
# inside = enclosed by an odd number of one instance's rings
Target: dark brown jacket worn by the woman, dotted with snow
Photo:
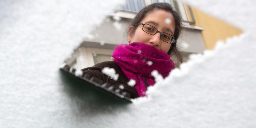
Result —
[[[115, 80], [111, 79], [109, 76], [102, 73], [101, 70], [104, 67], [114, 68], [116, 73], [119, 74], [118, 80], [115, 81]], [[128, 92], [131, 94], [131, 98], [139, 97], [136, 89], [127, 84], [129, 79], [127, 79], [127, 77], [125, 76], [125, 74], [123, 73], [121, 68], [114, 61], [105, 61], [102, 63], [98, 63], [98, 64], [94, 65], [93, 67], [84, 68], [84, 69], [82, 69], [82, 71], [83, 71], [82, 77], [84, 77], [85, 75], [87, 75], [87, 77], [88, 76], [96, 77], [98, 79], [103, 80], [103, 83], [107, 83], [108, 87], [113, 86], [113, 90], [119, 89], [120, 93]], [[121, 85], [121, 84], [123, 85], [124, 89], [119, 88], [119, 85]]]

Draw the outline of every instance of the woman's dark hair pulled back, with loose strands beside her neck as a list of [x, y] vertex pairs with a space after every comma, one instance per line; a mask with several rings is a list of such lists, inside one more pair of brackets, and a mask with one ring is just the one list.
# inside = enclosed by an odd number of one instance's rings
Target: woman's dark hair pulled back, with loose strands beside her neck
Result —
[[[139, 11], [139, 13], [131, 20], [130, 26], [134, 26], [131, 29], [131, 33], [135, 32], [136, 28], [138, 27], [135, 24], [138, 24], [141, 22], [141, 20], [151, 11], [154, 11], [156, 9], [162, 9], [164, 11], [170, 12], [173, 16], [174, 16], [174, 20], [175, 20], [175, 31], [174, 31], [174, 38], [177, 42], [177, 39], [179, 38], [180, 32], [181, 32], [181, 19], [179, 14], [174, 11], [172, 9], [172, 6], [168, 3], [153, 3], [151, 5], [148, 5], [146, 7], [144, 7], [143, 9], [141, 9], [141, 11]], [[181, 54], [179, 52], [179, 50], [177, 49], [176, 43], [173, 43], [169, 49], [169, 51], [167, 52], [167, 54], [171, 55], [171, 53], [173, 53], [173, 55], [178, 59], [178, 61], [180, 63], [182, 63], [182, 57]]]

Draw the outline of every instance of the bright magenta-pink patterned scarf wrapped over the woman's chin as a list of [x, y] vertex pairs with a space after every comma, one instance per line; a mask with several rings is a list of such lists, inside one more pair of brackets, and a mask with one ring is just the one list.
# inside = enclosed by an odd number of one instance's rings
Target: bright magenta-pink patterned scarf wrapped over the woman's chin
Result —
[[125, 76], [136, 81], [134, 87], [139, 96], [145, 96], [146, 87], [154, 85], [154, 77], [151, 76], [153, 70], [166, 77], [175, 68], [168, 54], [141, 42], [116, 46], [112, 57]]

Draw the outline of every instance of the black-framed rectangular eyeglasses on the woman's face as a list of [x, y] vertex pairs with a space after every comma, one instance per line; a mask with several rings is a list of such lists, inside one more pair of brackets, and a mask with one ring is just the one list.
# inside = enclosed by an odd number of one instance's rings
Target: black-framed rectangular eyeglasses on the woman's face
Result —
[[158, 32], [160, 33], [160, 38], [161, 40], [163, 40], [164, 42], [167, 42], [169, 44], [175, 43], [176, 40], [174, 39], [174, 37], [170, 34], [167, 34], [165, 32], [160, 32], [158, 31], [155, 27], [149, 25], [149, 24], [143, 24], [143, 23], [139, 23], [139, 24], [134, 24], [134, 25], [143, 25], [142, 30], [150, 35], [155, 35]]

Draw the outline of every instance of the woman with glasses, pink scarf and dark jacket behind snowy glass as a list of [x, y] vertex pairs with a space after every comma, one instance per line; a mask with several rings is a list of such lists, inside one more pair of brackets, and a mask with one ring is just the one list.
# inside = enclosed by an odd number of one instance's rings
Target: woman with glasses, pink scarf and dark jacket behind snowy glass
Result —
[[[119, 89], [121, 85], [121, 91], [128, 92], [131, 98], [145, 96], [146, 88], [155, 83], [154, 77], [150, 75], [153, 70], [157, 70], [163, 77], [168, 76], [175, 68], [170, 59], [171, 53], [182, 61], [176, 48], [180, 29], [180, 17], [171, 5], [148, 5], [131, 21], [127, 34], [129, 45], [116, 46], [112, 61], [82, 69], [83, 75], [99, 78], [113, 86], [113, 90]], [[104, 67], [114, 68], [119, 74], [118, 79], [113, 80], [102, 73]], [[135, 80], [135, 86], [127, 84], [131, 79]]]

